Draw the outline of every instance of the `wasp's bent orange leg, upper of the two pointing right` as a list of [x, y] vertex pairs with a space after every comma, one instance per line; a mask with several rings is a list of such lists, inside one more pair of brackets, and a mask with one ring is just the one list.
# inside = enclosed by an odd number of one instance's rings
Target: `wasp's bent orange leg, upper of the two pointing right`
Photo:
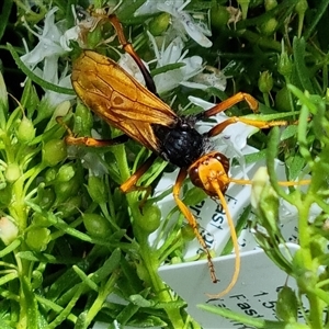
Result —
[[258, 101], [249, 93], [238, 92], [237, 94], [232, 95], [231, 98], [229, 98], [229, 99], [220, 102], [219, 104], [215, 105], [214, 107], [203, 112], [202, 114], [200, 114], [198, 118], [213, 116], [215, 114], [226, 111], [227, 109], [230, 109], [235, 104], [240, 103], [242, 101], [246, 101], [248, 103], [248, 105], [252, 112], [254, 112], [254, 113], [258, 112]]

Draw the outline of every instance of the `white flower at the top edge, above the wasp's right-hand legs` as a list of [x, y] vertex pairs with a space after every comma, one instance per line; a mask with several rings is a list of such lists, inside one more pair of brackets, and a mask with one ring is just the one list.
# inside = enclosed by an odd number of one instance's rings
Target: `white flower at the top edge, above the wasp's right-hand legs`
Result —
[[[135, 12], [135, 15], [152, 14], [156, 12], [167, 12], [171, 15], [171, 27], [175, 35], [184, 37], [189, 34], [201, 46], [208, 48], [213, 43], [206, 37], [211, 36], [211, 31], [201, 22], [195, 22], [192, 16], [183, 11], [183, 9], [191, 2], [191, 0], [167, 0], [154, 1], [148, 0]], [[168, 32], [170, 34], [170, 32]]]

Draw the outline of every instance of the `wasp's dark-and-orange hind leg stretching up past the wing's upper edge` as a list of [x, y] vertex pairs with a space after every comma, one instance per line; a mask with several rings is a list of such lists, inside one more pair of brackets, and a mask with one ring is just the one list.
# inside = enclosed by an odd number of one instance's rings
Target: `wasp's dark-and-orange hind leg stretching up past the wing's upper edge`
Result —
[[146, 83], [147, 89], [150, 92], [157, 94], [157, 88], [156, 88], [156, 84], [155, 84], [155, 81], [154, 81], [151, 75], [149, 73], [148, 69], [145, 67], [145, 65], [141, 61], [140, 57], [137, 55], [137, 53], [134, 49], [133, 45], [127, 42], [127, 39], [124, 35], [124, 32], [123, 32], [122, 24], [117, 20], [116, 15], [111, 14], [109, 16], [109, 20], [110, 20], [111, 24], [114, 26], [114, 29], [116, 31], [117, 38], [118, 38], [120, 43], [122, 44], [123, 48], [125, 49], [126, 53], [128, 53], [134, 58], [137, 66], [139, 67], [140, 71], [141, 71], [141, 75], [145, 79], [145, 83]]

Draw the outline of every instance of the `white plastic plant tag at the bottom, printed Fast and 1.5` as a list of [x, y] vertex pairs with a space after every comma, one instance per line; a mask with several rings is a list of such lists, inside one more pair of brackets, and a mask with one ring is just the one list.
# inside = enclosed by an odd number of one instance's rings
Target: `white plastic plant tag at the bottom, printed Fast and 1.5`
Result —
[[[291, 252], [298, 249], [294, 243], [287, 243], [287, 247]], [[159, 269], [161, 279], [188, 303], [188, 313], [202, 328], [250, 327], [202, 310], [197, 304], [225, 307], [257, 318], [276, 319], [277, 292], [285, 284], [287, 275], [261, 249], [242, 252], [238, 283], [220, 299], [209, 299], [206, 294], [217, 294], [228, 285], [234, 272], [235, 256], [214, 258], [213, 262], [220, 280], [217, 284], [209, 280], [206, 261], [163, 265]]]

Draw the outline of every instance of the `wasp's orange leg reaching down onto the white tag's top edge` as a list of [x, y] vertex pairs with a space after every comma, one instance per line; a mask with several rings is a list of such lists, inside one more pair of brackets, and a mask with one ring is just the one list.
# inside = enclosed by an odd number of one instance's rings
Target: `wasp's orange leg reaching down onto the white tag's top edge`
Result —
[[174, 201], [175, 201], [178, 207], [180, 208], [181, 213], [185, 216], [190, 226], [192, 227], [194, 235], [196, 236], [201, 247], [206, 252], [207, 260], [208, 260], [208, 266], [211, 270], [211, 276], [212, 276], [213, 282], [216, 283], [216, 282], [218, 282], [218, 280], [216, 277], [215, 268], [214, 268], [214, 264], [212, 261], [212, 256], [211, 256], [211, 252], [209, 252], [203, 237], [201, 236], [201, 234], [198, 231], [197, 222], [196, 222], [195, 217], [192, 215], [192, 213], [189, 211], [188, 206], [180, 200], [180, 191], [181, 191], [183, 181], [185, 180], [186, 175], [188, 175], [188, 170], [182, 168], [178, 174], [178, 178], [177, 178], [174, 186], [173, 186], [173, 191], [172, 191], [173, 197], [174, 197]]

